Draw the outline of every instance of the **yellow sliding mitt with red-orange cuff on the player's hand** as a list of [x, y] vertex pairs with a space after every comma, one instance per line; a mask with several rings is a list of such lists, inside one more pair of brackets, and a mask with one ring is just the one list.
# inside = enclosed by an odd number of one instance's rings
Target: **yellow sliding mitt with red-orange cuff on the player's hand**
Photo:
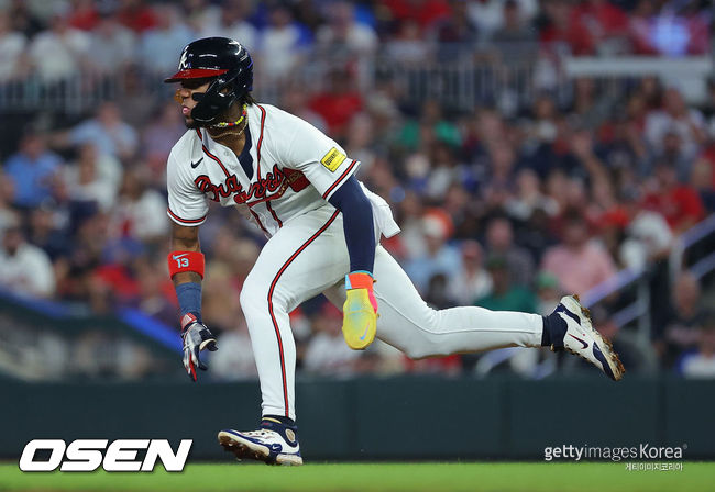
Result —
[[369, 273], [350, 273], [345, 278], [348, 298], [342, 306], [342, 334], [353, 350], [363, 350], [375, 339], [377, 300]]

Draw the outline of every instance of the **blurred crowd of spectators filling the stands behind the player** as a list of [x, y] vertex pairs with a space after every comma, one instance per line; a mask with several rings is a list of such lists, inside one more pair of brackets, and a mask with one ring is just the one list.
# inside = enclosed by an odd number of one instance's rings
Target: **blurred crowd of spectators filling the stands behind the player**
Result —
[[[156, 86], [186, 43], [208, 35], [245, 44], [264, 80], [283, 80], [265, 102], [362, 163], [359, 178], [388, 200], [403, 228], [384, 246], [431, 305], [547, 314], [564, 292], [585, 294], [620, 269], [662, 273], [673, 238], [715, 211], [715, 82], [693, 107], [656, 77], [616, 96], [584, 77], [565, 98], [539, 91], [507, 114], [488, 101], [468, 109], [438, 97], [406, 101], [389, 79], [365, 86], [352, 55], [420, 60], [459, 48], [479, 60], [484, 46], [505, 58], [706, 54], [707, 3], [0, 1], [0, 92], [33, 77], [59, 87], [76, 74], [124, 79], [90, 114], [33, 111], [13, 123], [16, 139], [3, 138], [0, 284], [95, 313], [136, 308], [176, 326], [165, 165], [186, 130], [170, 94], [148, 90], [142, 77]], [[292, 83], [292, 70], [320, 53], [344, 60], [331, 83]], [[255, 92], [262, 100], [261, 87]], [[264, 242], [229, 209], [212, 209], [201, 227], [204, 320], [221, 347], [215, 378], [255, 377], [238, 299]], [[612, 318], [618, 299], [594, 310], [595, 323], [630, 370], [715, 377], [707, 287], [689, 272], [654, 286], [646, 345]], [[384, 344], [356, 353], [340, 318], [321, 298], [292, 314], [302, 373], [539, 377], [574, 364], [546, 350], [418, 361]]]

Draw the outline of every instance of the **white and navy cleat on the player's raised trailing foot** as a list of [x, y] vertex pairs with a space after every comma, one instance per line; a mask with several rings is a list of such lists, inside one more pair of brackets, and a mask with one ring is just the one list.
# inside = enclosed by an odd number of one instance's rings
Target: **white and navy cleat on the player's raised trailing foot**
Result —
[[578, 295], [565, 295], [549, 316], [560, 316], [566, 323], [566, 332], [551, 350], [568, 350], [601, 369], [614, 381], [626, 372], [610, 342], [604, 338], [591, 323], [591, 313], [581, 305]]

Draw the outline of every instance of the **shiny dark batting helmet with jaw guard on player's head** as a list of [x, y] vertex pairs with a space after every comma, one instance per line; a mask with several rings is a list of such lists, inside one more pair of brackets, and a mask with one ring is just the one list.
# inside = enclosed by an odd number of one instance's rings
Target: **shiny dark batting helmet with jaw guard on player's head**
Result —
[[213, 80], [206, 93], [193, 94], [198, 104], [191, 111], [191, 118], [198, 123], [212, 124], [221, 112], [253, 90], [251, 55], [241, 43], [228, 37], [197, 40], [186, 45], [178, 71], [164, 82], [202, 78]]

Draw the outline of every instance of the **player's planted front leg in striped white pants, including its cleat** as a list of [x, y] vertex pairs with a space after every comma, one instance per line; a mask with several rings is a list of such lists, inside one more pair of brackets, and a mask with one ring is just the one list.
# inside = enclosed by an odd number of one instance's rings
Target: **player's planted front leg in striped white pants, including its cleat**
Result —
[[219, 433], [240, 458], [302, 462], [295, 427], [296, 347], [288, 313], [349, 268], [342, 222], [323, 208], [292, 220], [263, 247], [241, 290], [262, 393], [260, 431]]

